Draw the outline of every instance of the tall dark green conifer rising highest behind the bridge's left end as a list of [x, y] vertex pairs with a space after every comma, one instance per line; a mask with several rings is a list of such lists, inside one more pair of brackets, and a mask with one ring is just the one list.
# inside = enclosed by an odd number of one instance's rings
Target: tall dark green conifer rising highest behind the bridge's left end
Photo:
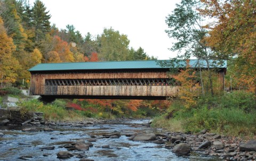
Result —
[[36, 0], [32, 7], [32, 23], [35, 28], [35, 43], [38, 43], [45, 38], [45, 35], [50, 31], [50, 18], [49, 11], [46, 11], [46, 7], [43, 2]]

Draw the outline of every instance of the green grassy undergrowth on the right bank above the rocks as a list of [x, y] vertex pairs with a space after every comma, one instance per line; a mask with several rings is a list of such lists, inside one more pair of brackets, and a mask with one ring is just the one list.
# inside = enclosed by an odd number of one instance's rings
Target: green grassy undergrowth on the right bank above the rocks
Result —
[[186, 108], [182, 101], [175, 100], [164, 116], [154, 119], [152, 126], [193, 133], [206, 128], [225, 135], [256, 135], [256, 102], [252, 93], [235, 91], [205, 96], [196, 104]]

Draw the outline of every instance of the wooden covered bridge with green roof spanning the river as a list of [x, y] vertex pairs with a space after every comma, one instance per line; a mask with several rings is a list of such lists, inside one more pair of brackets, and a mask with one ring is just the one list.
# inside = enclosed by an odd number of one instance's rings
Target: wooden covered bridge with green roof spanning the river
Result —
[[[41, 63], [29, 69], [30, 94], [41, 95], [44, 100], [166, 99], [178, 92], [178, 86], [167, 75], [170, 61]], [[193, 68], [197, 68], [197, 63], [189, 61]], [[186, 61], [177, 67], [186, 67]], [[217, 68], [222, 80], [226, 62]]]

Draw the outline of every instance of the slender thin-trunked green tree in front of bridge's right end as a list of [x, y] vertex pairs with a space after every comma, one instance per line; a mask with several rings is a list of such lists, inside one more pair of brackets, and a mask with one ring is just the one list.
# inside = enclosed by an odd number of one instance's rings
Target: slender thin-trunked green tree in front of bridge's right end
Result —
[[[203, 28], [203, 20], [197, 7], [201, 4], [197, 0], [182, 0], [180, 4], [176, 4], [176, 8], [166, 18], [169, 30], [166, 33], [169, 37], [177, 39], [171, 48], [172, 51], [182, 53], [177, 59], [190, 59], [196, 57], [198, 59], [198, 68], [201, 73], [201, 60], [206, 62], [206, 68], [210, 71], [210, 59], [213, 59], [213, 52], [202, 41], [207, 34], [207, 30]], [[212, 76], [209, 72], [209, 81], [211, 94], [213, 95]], [[203, 79], [201, 76], [202, 93], [204, 94]]]

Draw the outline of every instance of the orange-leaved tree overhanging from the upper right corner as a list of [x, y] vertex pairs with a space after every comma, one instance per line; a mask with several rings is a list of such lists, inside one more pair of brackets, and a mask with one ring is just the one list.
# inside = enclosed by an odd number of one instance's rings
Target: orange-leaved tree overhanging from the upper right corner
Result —
[[210, 29], [205, 37], [207, 45], [217, 57], [235, 58], [233, 77], [256, 95], [256, 2], [250, 0], [202, 0], [204, 16], [215, 21], [206, 25]]

